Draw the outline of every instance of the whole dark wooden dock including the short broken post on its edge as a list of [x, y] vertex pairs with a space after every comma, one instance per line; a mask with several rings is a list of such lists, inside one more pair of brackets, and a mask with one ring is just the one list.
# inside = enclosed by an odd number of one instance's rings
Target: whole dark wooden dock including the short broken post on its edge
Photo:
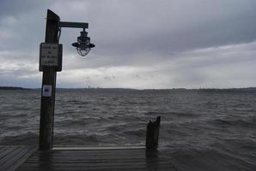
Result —
[[[149, 121], [145, 146], [55, 147], [40, 139], [40, 146], [0, 145], [0, 171], [29, 170], [139, 170], [174, 171], [158, 152], [160, 116]], [[52, 137], [52, 135], [51, 135]], [[51, 145], [49, 145], [49, 142]], [[38, 150], [40, 149], [40, 150]]]

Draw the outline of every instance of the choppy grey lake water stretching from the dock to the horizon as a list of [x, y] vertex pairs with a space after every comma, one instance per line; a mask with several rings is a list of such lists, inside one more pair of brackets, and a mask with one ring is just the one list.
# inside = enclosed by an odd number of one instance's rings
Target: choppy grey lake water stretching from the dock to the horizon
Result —
[[[256, 91], [61, 90], [54, 144], [160, 148], [178, 170], [256, 170]], [[40, 91], [0, 91], [0, 144], [38, 144]]]

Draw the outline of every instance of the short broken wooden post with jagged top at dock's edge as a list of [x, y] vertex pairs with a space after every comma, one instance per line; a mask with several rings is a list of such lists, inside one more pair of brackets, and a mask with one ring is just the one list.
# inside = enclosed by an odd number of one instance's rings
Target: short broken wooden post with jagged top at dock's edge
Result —
[[146, 135], [146, 149], [156, 150], [158, 147], [159, 129], [161, 117], [157, 116], [156, 121], [149, 121]]

